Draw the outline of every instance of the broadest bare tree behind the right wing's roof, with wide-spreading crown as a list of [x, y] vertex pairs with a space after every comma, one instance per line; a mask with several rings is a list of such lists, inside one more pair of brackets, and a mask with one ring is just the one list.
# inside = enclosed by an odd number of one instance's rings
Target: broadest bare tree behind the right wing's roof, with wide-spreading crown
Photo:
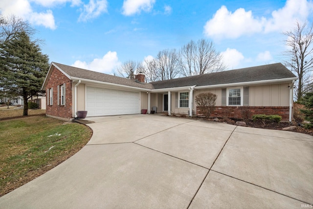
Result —
[[216, 51], [213, 42], [201, 39], [190, 41], [180, 50], [180, 72], [183, 76], [201, 75], [222, 71], [226, 68], [222, 55]]

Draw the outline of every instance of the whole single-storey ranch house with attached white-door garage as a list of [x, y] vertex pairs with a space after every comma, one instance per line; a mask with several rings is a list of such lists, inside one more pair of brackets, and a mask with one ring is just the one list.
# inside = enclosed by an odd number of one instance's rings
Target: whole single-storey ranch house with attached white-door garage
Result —
[[292, 119], [293, 84], [297, 77], [281, 63], [227, 70], [171, 80], [144, 83], [136, 80], [52, 63], [42, 89], [46, 115], [72, 119], [77, 111], [87, 116], [139, 114], [157, 108], [169, 115], [198, 114], [195, 95], [217, 95], [214, 117], [241, 117], [242, 109], [254, 114], [277, 114]]

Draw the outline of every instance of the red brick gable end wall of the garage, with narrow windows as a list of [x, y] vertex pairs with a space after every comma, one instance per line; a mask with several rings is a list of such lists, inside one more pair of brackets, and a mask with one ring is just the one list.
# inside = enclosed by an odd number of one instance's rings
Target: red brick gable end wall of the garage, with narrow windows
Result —
[[[61, 105], [61, 95], [59, 94], [59, 104], [58, 104], [58, 85], [65, 84], [66, 94], [65, 94], [65, 105]], [[73, 102], [72, 102], [72, 82], [65, 76], [60, 70], [54, 68], [49, 77], [46, 85], [46, 95], [48, 95], [49, 89], [53, 88], [53, 103], [52, 105], [47, 105], [49, 98], [46, 98], [46, 114], [49, 116], [62, 117], [70, 119], [73, 117]], [[60, 87], [61, 88], [61, 87]]]

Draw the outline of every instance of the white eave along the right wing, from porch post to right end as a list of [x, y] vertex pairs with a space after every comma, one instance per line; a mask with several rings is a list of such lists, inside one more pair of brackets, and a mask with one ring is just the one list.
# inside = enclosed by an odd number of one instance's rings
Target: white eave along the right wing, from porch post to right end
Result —
[[264, 84], [275, 84], [275, 83], [284, 83], [292, 82], [297, 80], [297, 77], [293, 78], [282, 78], [282, 79], [273, 79], [273, 80], [263, 80], [263, 81], [249, 81], [249, 82], [240, 82], [240, 83], [228, 83], [228, 84], [218, 84], [218, 85], [208, 85], [208, 86], [196, 86], [195, 89], [215, 89], [215, 88], [224, 88], [224, 87], [234, 87], [234, 86], [250, 86], [250, 85], [264, 85]]

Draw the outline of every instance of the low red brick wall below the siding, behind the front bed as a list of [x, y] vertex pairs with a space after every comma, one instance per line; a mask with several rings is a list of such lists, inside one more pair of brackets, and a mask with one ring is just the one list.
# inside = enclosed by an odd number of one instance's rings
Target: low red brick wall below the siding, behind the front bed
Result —
[[[283, 121], [289, 121], [289, 107], [265, 107], [265, 106], [216, 106], [210, 117], [220, 118], [243, 118], [243, 114], [247, 114], [249, 119], [253, 115], [279, 115]], [[199, 107], [197, 107], [197, 115], [201, 115]]]

